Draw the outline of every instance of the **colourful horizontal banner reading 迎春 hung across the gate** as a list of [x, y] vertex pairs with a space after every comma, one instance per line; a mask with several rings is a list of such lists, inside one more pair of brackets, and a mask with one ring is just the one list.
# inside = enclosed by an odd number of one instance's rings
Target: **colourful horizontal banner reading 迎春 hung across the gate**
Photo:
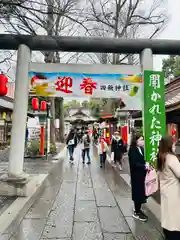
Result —
[[29, 72], [30, 95], [118, 98], [123, 110], [142, 110], [142, 75]]

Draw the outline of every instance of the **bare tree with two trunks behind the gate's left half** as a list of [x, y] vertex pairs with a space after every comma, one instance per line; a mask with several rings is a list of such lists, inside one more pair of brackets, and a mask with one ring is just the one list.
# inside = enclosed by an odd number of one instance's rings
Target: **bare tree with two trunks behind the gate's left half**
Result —
[[[46, 34], [46, 35], [78, 35], [80, 28], [87, 31], [81, 18], [83, 11], [80, 0], [29, 0], [15, 4], [15, 8], [8, 17], [0, 19], [7, 32], [18, 34]], [[67, 62], [71, 55], [64, 53], [42, 52], [45, 62]], [[61, 99], [63, 101], [63, 99]], [[63, 117], [63, 104], [61, 106], [61, 123]], [[55, 142], [55, 104], [50, 99], [51, 114], [51, 140]], [[61, 128], [63, 126], [61, 125]], [[63, 130], [63, 129], [62, 129]], [[63, 131], [60, 131], [61, 133]], [[63, 134], [61, 134], [61, 138]]]

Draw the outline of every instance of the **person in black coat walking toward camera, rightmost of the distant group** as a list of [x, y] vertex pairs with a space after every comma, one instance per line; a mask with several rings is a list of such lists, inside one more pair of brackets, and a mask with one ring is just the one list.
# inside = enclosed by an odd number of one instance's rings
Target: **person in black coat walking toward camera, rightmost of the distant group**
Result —
[[111, 142], [111, 155], [114, 164], [119, 164], [119, 169], [122, 170], [122, 155], [124, 153], [124, 142], [119, 134], [115, 132]]

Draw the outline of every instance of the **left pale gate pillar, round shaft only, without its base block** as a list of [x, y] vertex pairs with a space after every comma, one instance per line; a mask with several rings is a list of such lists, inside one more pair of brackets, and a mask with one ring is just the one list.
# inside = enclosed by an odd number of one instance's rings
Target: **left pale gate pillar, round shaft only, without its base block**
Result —
[[23, 175], [30, 59], [30, 49], [26, 45], [20, 45], [16, 67], [15, 98], [12, 116], [13, 124], [8, 167], [9, 177], [21, 178]]

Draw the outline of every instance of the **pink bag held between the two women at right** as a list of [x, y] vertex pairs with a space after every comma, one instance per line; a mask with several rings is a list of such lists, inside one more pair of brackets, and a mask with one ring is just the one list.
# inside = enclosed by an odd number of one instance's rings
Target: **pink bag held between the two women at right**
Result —
[[158, 191], [158, 187], [159, 184], [156, 170], [150, 167], [146, 173], [145, 178], [145, 195], [147, 197], [151, 196], [152, 194]]

